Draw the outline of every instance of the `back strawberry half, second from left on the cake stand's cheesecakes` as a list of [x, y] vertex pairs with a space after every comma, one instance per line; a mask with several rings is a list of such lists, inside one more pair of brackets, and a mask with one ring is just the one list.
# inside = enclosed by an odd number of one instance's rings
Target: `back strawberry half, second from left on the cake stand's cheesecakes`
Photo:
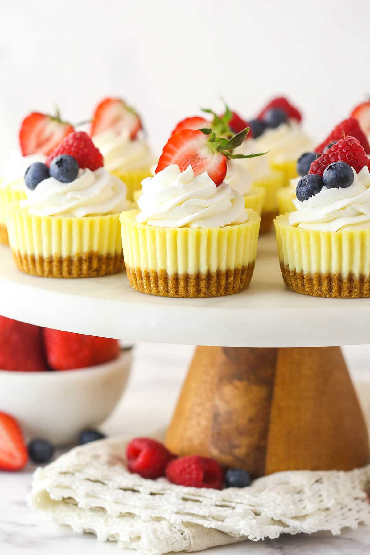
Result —
[[103, 133], [108, 129], [117, 135], [127, 130], [130, 139], [135, 139], [139, 130], [143, 128], [140, 118], [133, 108], [130, 108], [121, 98], [104, 98], [95, 109], [91, 135]]

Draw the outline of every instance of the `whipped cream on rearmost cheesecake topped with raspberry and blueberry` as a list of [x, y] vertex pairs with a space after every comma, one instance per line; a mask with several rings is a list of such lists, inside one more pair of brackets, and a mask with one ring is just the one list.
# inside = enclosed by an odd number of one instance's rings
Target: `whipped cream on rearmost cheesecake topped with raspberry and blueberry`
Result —
[[268, 156], [276, 162], [297, 160], [304, 152], [313, 148], [312, 141], [302, 129], [302, 125], [295, 119], [282, 123], [276, 129], [266, 129], [256, 139], [258, 152], [267, 152]]

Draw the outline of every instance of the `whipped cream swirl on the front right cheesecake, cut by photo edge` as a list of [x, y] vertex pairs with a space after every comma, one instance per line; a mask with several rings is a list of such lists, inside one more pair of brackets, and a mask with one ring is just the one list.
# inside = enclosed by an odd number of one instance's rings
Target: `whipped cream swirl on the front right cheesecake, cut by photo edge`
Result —
[[[352, 168], [353, 170], [353, 168]], [[302, 229], [338, 231], [370, 228], [370, 173], [367, 166], [356, 173], [346, 188], [327, 189], [305, 201], [294, 200], [297, 211], [289, 214], [290, 225]]]

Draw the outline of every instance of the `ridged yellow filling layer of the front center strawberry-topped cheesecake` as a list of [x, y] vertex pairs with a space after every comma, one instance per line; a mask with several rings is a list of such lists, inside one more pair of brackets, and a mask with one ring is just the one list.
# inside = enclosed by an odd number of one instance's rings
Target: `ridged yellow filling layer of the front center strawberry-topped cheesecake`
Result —
[[254, 263], [260, 216], [247, 210], [243, 224], [222, 228], [160, 228], [139, 224], [138, 210], [120, 216], [126, 267], [168, 275], [216, 273]]

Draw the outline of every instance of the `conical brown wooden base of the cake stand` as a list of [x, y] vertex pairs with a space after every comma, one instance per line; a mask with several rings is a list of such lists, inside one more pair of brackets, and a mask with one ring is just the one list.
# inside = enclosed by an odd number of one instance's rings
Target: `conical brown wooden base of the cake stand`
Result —
[[352, 470], [369, 458], [340, 347], [197, 347], [166, 446], [255, 477]]

